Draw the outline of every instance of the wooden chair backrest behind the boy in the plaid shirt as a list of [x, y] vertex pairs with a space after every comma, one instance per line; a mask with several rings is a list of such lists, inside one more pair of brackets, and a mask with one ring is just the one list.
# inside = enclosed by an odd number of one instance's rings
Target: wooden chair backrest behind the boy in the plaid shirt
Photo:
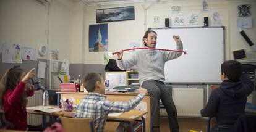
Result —
[[93, 120], [91, 118], [68, 118], [68, 117], [59, 117], [61, 120], [61, 125], [64, 131], [95, 131]]

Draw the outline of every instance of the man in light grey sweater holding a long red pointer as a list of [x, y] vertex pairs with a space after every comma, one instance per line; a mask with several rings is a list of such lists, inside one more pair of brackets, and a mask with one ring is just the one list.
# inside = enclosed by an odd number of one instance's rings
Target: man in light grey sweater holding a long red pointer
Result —
[[[146, 48], [155, 48], [156, 38], [157, 34], [155, 31], [146, 31], [143, 36], [144, 46]], [[176, 49], [182, 51], [183, 46], [181, 38], [179, 38], [179, 36], [173, 36], [173, 39], [177, 43]], [[174, 105], [171, 93], [164, 84], [164, 64], [168, 60], [176, 59], [181, 55], [182, 52], [147, 49], [136, 51], [130, 59], [122, 60], [122, 51], [117, 53], [117, 66], [122, 70], [126, 70], [136, 65], [139, 71], [140, 86], [147, 89], [150, 94], [152, 131], [160, 131], [160, 99], [168, 113], [170, 130], [172, 132], [179, 131], [177, 109]]]

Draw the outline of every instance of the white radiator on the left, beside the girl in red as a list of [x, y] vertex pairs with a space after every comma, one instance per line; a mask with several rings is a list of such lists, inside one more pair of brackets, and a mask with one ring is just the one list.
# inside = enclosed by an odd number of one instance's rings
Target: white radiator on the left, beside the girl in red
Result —
[[[32, 97], [28, 97], [27, 107], [43, 105], [43, 91], [37, 90]], [[28, 125], [38, 126], [42, 123], [41, 115], [27, 114]]]

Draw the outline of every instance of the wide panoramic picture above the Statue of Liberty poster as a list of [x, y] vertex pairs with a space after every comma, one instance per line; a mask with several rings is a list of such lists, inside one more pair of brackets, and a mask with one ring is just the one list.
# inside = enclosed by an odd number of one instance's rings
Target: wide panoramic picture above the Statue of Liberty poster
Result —
[[134, 6], [96, 10], [96, 23], [134, 20]]

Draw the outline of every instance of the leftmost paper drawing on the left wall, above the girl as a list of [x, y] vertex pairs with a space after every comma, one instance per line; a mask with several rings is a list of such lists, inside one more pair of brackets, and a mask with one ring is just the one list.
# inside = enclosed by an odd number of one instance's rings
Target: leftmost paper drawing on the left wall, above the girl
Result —
[[2, 44], [2, 63], [12, 63], [12, 44]]

